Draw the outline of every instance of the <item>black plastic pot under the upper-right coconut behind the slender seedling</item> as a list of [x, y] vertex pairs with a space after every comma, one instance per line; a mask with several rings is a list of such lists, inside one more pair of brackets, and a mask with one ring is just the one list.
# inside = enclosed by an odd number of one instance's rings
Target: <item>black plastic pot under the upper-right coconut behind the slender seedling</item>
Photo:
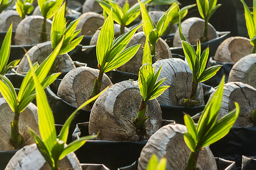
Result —
[[[228, 39], [230, 37], [230, 32], [218, 32], [219, 37], [216, 39], [210, 40], [208, 42], [201, 43], [201, 49], [204, 50], [209, 46], [209, 56], [214, 56], [215, 52], [218, 48], [218, 46], [223, 42], [224, 40]], [[196, 49], [196, 45], [193, 45], [193, 47]], [[185, 56], [183, 52], [182, 46], [180, 47], [171, 47], [171, 52], [174, 54], [180, 54], [181, 56]]]

